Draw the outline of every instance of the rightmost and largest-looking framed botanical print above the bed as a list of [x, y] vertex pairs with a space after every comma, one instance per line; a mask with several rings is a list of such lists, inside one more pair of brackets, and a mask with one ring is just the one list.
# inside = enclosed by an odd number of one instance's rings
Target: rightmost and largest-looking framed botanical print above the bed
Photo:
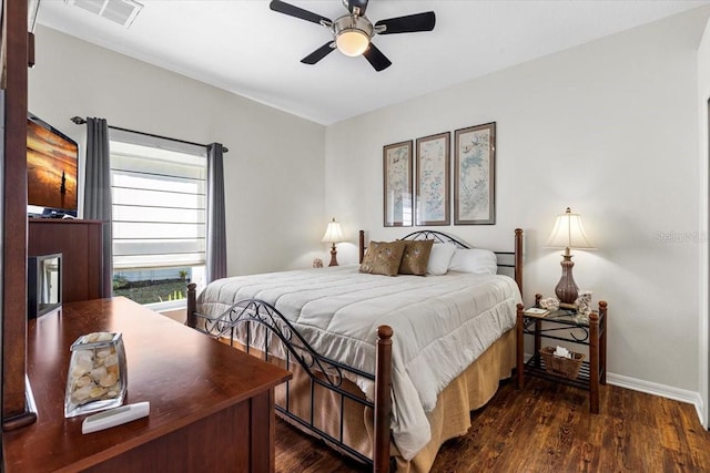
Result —
[[496, 123], [454, 133], [454, 225], [496, 223]]

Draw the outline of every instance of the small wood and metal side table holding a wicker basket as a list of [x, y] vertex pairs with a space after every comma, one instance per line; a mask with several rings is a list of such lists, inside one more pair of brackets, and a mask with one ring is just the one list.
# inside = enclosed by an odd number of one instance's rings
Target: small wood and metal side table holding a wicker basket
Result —
[[[540, 300], [536, 295], [536, 307]], [[589, 411], [599, 413], [599, 385], [607, 383], [607, 302], [599, 301], [599, 310], [591, 312], [589, 321], [580, 321], [574, 310], [560, 309], [544, 318], [525, 315], [524, 306], [517, 310], [517, 384], [525, 388], [525, 376], [544, 378], [549, 381], [574, 385], [589, 391]], [[525, 362], [524, 337], [535, 337], [535, 353]], [[579, 376], [569, 379], [545, 369], [540, 357], [541, 339], [561, 340], [589, 347], [589, 359], [584, 361]]]

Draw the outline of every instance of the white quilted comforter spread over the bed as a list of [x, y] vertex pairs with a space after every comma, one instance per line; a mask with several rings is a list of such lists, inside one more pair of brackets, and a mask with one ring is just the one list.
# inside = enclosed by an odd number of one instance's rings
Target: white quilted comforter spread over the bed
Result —
[[[506, 276], [378, 276], [357, 265], [240, 276], [212, 282], [197, 311], [217, 317], [233, 302], [272, 304], [321, 354], [375, 371], [376, 331], [393, 336], [392, 430], [405, 459], [430, 438], [426, 412], [437, 395], [515, 326], [520, 292]], [[373, 399], [374, 383], [355, 380]]]

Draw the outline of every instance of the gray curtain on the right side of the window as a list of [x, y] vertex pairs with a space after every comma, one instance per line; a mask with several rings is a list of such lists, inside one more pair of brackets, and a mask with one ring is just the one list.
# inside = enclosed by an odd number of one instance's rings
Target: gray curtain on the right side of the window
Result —
[[223, 146], [207, 145], [207, 251], [206, 282], [226, 277]]

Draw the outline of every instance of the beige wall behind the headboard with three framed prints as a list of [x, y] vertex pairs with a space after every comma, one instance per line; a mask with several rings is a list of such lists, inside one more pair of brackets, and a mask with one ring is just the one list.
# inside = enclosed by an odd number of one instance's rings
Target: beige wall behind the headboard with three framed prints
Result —
[[[458, 86], [387, 106], [326, 133], [326, 210], [351, 234], [383, 228], [382, 146], [497, 122], [497, 224], [450, 226], [509, 249], [523, 227], [525, 300], [552, 295], [556, 214], [582, 214], [597, 251], [575, 278], [609, 302], [610, 379], [699, 403], [697, 49], [709, 10], [694, 10]], [[703, 238], [699, 244], [698, 237]], [[666, 243], [665, 238], [671, 239]], [[354, 251], [349, 256], [355, 258]]]

